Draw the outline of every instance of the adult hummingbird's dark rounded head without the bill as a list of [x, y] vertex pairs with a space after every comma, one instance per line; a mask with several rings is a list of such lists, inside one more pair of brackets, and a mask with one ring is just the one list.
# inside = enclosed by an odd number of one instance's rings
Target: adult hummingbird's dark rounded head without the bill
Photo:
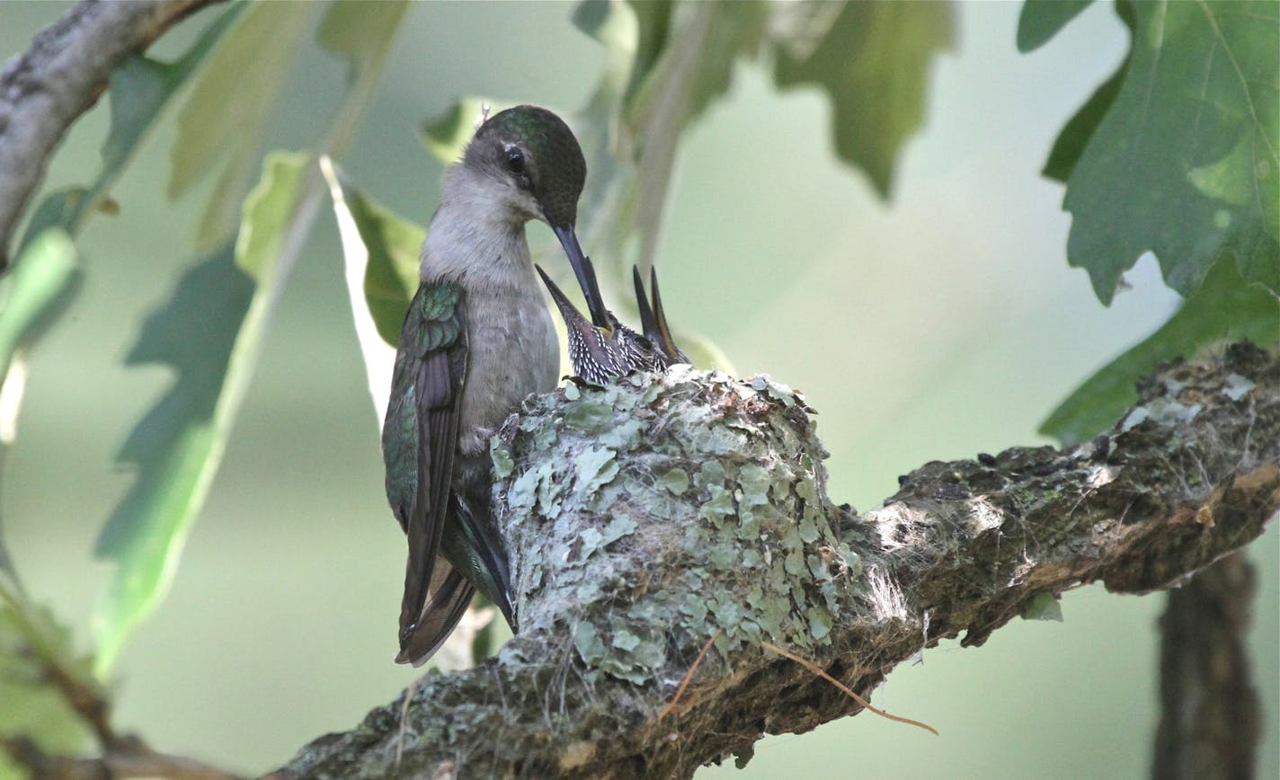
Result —
[[516, 106], [480, 125], [462, 164], [506, 178], [532, 196], [552, 228], [572, 228], [586, 180], [586, 160], [564, 121], [538, 106]]

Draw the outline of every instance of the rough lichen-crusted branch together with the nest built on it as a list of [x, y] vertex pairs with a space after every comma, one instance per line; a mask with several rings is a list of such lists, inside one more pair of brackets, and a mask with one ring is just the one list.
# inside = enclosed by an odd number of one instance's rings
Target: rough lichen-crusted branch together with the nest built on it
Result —
[[401, 702], [379, 707], [276, 776], [690, 776], [859, 710], [763, 643], [865, 697], [1062, 591], [1181, 583], [1280, 505], [1280, 362], [1165, 367], [1088, 446], [928, 463], [863, 515], [827, 499], [823, 455], [803, 400], [763, 380], [673, 368], [531, 399], [494, 448], [521, 634], [428, 673], [403, 729]]

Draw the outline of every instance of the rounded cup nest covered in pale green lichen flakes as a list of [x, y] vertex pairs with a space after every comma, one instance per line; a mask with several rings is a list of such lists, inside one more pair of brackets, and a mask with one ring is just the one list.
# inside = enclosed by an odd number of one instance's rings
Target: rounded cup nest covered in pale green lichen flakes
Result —
[[689, 366], [530, 398], [490, 453], [521, 633], [637, 685], [678, 684], [676, 638], [828, 642], [860, 566], [808, 412], [768, 377]]

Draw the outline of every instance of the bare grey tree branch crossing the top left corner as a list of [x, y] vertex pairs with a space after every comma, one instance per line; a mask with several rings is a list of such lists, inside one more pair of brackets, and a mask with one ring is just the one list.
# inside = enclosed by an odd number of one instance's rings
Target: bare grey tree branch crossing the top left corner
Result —
[[0, 72], [0, 271], [54, 148], [106, 88], [111, 70], [218, 0], [82, 0]]

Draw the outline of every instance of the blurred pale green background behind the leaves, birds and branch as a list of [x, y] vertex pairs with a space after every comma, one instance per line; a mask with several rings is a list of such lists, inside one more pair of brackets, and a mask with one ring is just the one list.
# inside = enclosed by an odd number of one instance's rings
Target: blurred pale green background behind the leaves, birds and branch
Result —
[[[26, 49], [67, 8], [4, 3], [0, 52]], [[352, 178], [425, 221], [440, 166], [417, 141], [424, 118], [465, 95], [579, 107], [604, 51], [572, 27], [572, 8], [412, 6], [344, 164]], [[1062, 188], [1038, 175], [1059, 129], [1121, 60], [1123, 26], [1096, 5], [1021, 56], [1019, 8], [957, 6], [959, 51], [934, 69], [927, 127], [906, 146], [891, 203], [837, 162], [826, 100], [777, 93], [755, 65], [737, 68], [730, 97], [685, 137], [658, 254], [668, 312], [741, 375], [767, 371], [806, 393], [832, 451], [832, 495], [860, 509], [924, 460], [1039, 441], [1038, 423], [1078, 382], [1176, 306], [1147, 258], [1128, 275], [1133, 289], [1103, 308], [1065, 263]], [[157, 52], [179, 51], [207, 19]], [[308, 143], [343, 79], [310, 45], [271, 146]], [[105, 129], [104, 105], [76, 127], [47, 184], [88, 179]], [[95, 220], [79, 242], [87, 280], [35, 354], [5, 474], [17, 565], [82, 641], [108, 574], [90, 558], [93, 538], [132, 478], [114, 468], [115, 451], [173, 378], [122, 367], [143, 315], [192, 260], [201, 198], [164, 199], [172, 137], [170, 115], [116, 187], [120, 215]], [[173, 592], [120, 660], [123, 729], [262, 772], [413, 679], [392, 662], [403, 540], [375, 426], [325, 215]], [[1267, 717], [1263, 777], [1280, 776], [1277, 538], [1272, 527], [1249, 550], [1261, 575], [1251, 646]], [[874, 693], [941, 738], [860, 716], [767, 739], [740, 775], [1142, 776], [1162, 605], [1160, 595], [1074, 591], [1065, 623], [1012, 624], [979, 651], [943, 644]]]

